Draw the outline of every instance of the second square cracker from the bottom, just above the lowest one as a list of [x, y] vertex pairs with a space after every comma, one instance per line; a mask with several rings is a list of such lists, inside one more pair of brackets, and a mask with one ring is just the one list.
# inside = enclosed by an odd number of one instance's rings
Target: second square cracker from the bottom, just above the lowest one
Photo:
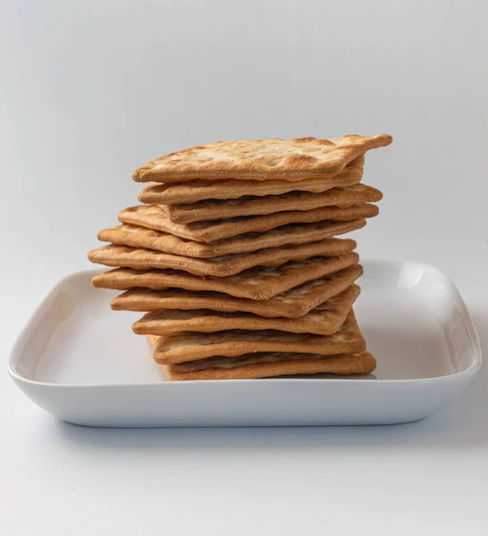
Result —
[[285, 331], [180, 331], [156, 336], [157, 363], [174, 364], [213, 356], [242, 356], [254, 352], [299, 352], [303, 354], [357, 354], [366, 350], [366, 341], [351, 311], [332, 335], [287, 333]]

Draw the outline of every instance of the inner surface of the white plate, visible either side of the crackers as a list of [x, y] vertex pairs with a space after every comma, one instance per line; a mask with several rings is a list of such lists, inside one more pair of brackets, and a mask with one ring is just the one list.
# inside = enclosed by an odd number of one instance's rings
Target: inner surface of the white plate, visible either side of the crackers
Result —
[[[368, 350], [378, 361], [365, 381], [435, 378], [476, 364], [475, 331], [466, 306], [442, 272], [420, 263], [363, 264], [355, 309]], [[15, 373], [69, 385], [165, 381], [147, 339], [130, 329], [142, 314], [112, 311], [108, 302], [117, 292], [93, 289], [89, 281], [96, 273], [67, 277], [39, 306], [13, 352]]]

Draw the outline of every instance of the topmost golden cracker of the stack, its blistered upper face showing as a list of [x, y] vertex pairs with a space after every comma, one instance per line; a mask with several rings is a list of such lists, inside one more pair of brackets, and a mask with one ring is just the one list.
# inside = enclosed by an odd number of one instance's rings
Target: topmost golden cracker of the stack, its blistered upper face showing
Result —
[[217, 141], [160, 156], [132, 173], [137, 182], [187, 179], [305, 180], [333, 177], [369, 149], [385, 147], [388, 134], [316, 139], [240, 139]]

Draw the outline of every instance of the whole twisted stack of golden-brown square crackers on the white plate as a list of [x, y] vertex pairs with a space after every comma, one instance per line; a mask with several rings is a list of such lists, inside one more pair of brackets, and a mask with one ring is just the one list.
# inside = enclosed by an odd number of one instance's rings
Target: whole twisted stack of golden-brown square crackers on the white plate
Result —
[[[98, 233], [115, 310], [144, 312], [169, 380], [365, 374], [374, 356], [353, 304], [363, 269], [343, 235], [378, 214], [365, 153], [391, 137], [218, 142], [133, 173], [143, 205]], [[336, 238], [341, 236], [341, 238]]]

